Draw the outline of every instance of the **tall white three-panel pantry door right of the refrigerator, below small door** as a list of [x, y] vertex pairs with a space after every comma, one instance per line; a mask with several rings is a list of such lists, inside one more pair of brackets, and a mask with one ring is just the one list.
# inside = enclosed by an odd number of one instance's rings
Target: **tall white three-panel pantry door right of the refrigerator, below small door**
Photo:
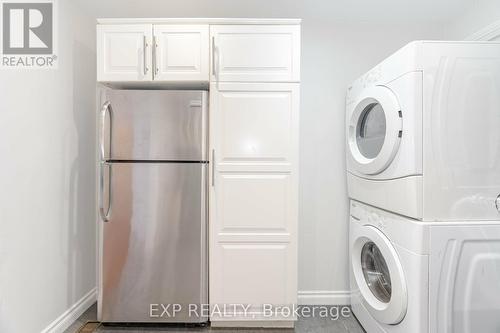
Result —
[[249, 304], [297, 302], [297, 156], [299, 85], [212, 83], [210, 299]]

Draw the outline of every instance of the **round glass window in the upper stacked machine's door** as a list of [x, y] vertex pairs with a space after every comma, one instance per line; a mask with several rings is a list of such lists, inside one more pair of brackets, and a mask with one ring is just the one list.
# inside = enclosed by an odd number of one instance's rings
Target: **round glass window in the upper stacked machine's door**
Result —
[[369, 104], [361, 113], [356, 129], [356, 143], [364, 157], [377, 157], [384, 145], [385, 112], [379, 103]]

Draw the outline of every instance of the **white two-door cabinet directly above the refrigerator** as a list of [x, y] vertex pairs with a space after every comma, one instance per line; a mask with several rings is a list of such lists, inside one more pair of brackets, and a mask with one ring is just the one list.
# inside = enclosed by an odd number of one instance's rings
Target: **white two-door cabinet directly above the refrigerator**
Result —
[[208, 82], [208, 24], [97, 26], [97, 81]]

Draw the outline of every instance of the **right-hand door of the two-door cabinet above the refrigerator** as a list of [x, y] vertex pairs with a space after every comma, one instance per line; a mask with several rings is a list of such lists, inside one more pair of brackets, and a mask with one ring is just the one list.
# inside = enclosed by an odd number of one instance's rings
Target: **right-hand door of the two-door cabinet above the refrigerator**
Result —
[[155, 25], [155, 81], [208, 82], [208, 25]]

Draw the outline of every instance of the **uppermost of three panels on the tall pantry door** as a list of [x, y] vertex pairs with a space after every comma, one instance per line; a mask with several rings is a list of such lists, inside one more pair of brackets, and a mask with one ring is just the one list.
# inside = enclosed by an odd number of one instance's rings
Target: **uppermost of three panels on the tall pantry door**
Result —
[[297, 86], [221, 83], [213, 88], [218, 169], [250, 164], [290, 167], [297, 144]]

